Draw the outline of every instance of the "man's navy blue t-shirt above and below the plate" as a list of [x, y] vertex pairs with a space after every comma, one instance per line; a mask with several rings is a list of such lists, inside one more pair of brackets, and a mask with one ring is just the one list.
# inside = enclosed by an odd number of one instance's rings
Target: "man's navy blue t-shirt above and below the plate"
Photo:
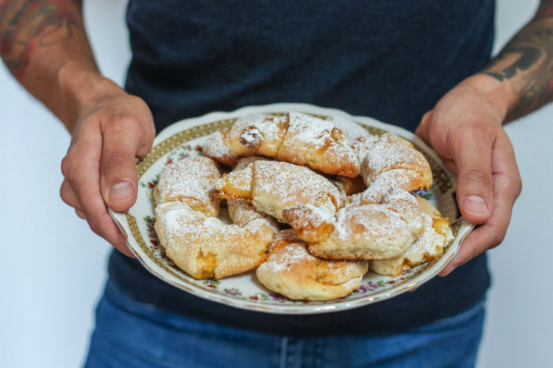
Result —
[[[215, 110], [305, 102], [415, 130], [488, 61], [493, 0], [130, 0], [126, 90], [156, 128]], [[417, 291], [350, 311], [268, 315], [209, 302], [113, 252], [110, 277], [143, 302], [192, 318], [287, 335], [387, 333], [446, 318], [489, 287], [485, 255]]]

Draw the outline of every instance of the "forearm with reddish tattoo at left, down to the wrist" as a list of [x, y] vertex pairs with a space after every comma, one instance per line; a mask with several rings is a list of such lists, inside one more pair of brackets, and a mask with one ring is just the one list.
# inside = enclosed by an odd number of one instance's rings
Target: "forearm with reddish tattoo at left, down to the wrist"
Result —
[[115, 84], [97, 69], [76, 0], [0, 0], [0, 56], [68, 130], [88, 100]]

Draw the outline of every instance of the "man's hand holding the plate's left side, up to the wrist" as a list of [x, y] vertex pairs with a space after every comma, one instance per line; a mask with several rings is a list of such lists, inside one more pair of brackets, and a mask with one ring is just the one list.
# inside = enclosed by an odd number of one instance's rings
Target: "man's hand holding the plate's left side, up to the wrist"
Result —
[[62, 161], [60, 195], [97, 235], [133, 257], [107, 209], [124, 211], [136, 200], [135, 165], [156, 135], [150, 110], [142, 99], [115, 86], [79, 111], [72, 133]]

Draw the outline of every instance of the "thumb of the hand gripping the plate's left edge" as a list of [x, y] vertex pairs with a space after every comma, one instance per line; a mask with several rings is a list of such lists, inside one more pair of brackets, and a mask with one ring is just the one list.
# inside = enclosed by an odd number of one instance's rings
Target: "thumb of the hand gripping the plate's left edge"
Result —
[[134, 204], [138, 188], [136, 157], [142, 137], [132, 117], [106, 126], [100, 162], [100, 190], [110, 209], [125, 211]]

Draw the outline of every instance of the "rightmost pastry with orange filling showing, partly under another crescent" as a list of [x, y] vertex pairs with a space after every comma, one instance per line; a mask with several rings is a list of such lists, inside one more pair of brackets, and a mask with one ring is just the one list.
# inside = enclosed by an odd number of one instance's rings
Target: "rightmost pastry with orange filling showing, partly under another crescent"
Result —
[[376, 273], [393, 277], [401, 275], [404, 270], [438, 258], [444, 246], [453, 240], [449, 220], [424, 198], [417, 197], [417, 200], [424, 231], [402, 255], [390, 260], [369, 261], [368, 267]]

